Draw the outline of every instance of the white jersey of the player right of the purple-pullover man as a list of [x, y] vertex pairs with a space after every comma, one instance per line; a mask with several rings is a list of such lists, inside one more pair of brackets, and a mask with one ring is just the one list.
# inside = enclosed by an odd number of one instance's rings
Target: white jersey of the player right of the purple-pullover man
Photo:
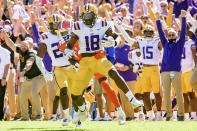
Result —
[[194, 69], [194, 61], [191, 48], [195, 48], [194, 42], [192, 40], [186, 41], [183, 48], [181, 61], [181, 70], [183, 73]]

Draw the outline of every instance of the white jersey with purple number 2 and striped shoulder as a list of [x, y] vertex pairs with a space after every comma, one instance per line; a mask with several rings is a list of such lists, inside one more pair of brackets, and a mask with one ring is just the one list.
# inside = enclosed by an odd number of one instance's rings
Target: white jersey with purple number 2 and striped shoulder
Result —
[[61, 36], [54, 35], [50, 32], [44, 33], [40, 37], [40, 42], [45, 43], [47, 52], [52, 60], [52, 66], [61, 67], [70, 65], [67, 57], [59, 50], [58, 44], [62, 40]]

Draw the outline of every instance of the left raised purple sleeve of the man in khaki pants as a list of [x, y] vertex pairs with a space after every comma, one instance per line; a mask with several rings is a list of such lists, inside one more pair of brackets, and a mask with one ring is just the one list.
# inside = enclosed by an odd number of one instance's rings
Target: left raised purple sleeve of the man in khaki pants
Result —
[[156, 21], [156, 24], [157, 24], [157, 29], [158, 29], [158, 33], [159, 33], [159, 38], [161, 40], [161, 43], [163, 46], [165, 46], [166, 42], [168, 41], [166, 36], [165, 36], [165, 33], [162, 29], [162, 26], [161, 26], [161, 22], [160, 20], [157, 20]]

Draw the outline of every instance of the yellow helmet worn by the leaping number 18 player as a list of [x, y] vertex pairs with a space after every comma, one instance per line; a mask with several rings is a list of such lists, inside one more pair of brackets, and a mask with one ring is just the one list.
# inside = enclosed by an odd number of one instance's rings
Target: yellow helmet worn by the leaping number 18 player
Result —
[[81, 18], [88, 27], [92, 28], [96, 22], [98, 9], [93, 4], [86, 4], [81, 9]]

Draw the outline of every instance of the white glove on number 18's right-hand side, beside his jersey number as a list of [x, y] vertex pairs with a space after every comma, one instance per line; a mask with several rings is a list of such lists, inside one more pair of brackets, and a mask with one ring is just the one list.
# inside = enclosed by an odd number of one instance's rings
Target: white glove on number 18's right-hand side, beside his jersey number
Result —
[[115, 40], [112, 36], [104, 36], [104, 38], [100, 41], [103, 47], [112, 47], [115, 46]]

